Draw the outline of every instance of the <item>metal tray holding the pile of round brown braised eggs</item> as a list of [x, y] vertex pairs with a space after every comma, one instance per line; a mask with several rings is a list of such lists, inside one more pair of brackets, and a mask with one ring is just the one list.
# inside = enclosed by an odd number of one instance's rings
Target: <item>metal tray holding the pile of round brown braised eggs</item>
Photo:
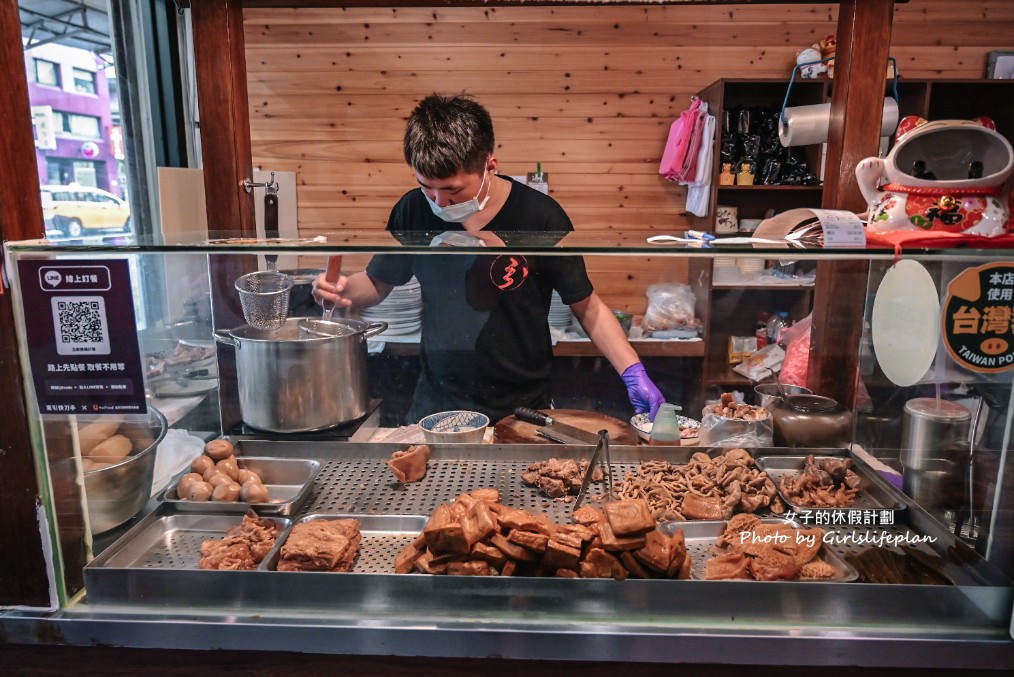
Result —
[[187, 472], [180, 473], [158, 495], [158, 500], [180, 513], [201, 513], [219, 515], [242, 515], [254, 509], [259, 515], [292, 515], [309, 498], [313, 490], [313, 479], [320, 471], [320, 461], [293, 458], [244, 458], [236, 459], [240, 469], [247, 469], [261, 476], [268, 487], [271, 501], [268, 503], [243, 503], [241, 501], [185, 501], [176, 497], [176, 484]]

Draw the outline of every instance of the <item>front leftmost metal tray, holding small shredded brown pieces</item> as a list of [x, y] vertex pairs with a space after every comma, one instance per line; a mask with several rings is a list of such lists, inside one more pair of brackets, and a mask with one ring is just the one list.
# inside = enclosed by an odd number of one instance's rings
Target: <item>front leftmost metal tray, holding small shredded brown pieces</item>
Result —
[[[284, 517], [265, 519], [275, 523], [279, 537], [292, 523]], [[92, 559], [85, 567], [85, 578], [89, 570], [94, 574], [99, 569], [207, 571], [200, 567], [201, 543], [223, 538], [240, 522], [242, 516], [237, 515], [152, 513]]]

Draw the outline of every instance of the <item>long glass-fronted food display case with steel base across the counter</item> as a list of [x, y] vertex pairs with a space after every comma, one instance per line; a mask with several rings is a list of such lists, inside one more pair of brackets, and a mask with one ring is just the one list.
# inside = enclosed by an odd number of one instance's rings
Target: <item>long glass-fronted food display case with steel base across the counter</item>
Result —
[[[776, 665], [805, 648], [812, 665], [1010, 664], [1008, 252], [658, 245], [580, 232], [503, 233], [503, 247], [432, 246], [438, 235], [6, 243], [60, 599], [47, 612], [0, 613], [5, 636], [45, 643], [45, 625], [79, 646], [646, 662], [714, 662], [721, 648], [724, 662]], [[269, 286], [279, 254], [299, 261], [283, 272], [281, 299]], [[309, 283], [337, 256], [343, 274], [382, 256], [417, 277], [383, 304], [341, 309], [337, 322], [321, 324]], [[677, 290], [689, 313], [660, 306], [643, 279], [625, 287], [624, 274], [646, 257], [666, 261], [647, 283]], [[760, 356], [732, 350], [733, 336], [757, 328], [758, 309], [740, 303], [737, 286], [742, 298], [778, 298], [772, 290], [782, 286], [819, 287], [814, 271], [831, 261], [865, 264], [852, 269], [867, 289], [865, 307], [834, 309], [843, 325], [862, 327], [860, 345], [846, 349], [859, 352], [857, 373], [841, 374], [856, 381], [851, 402], [806, 392], [808, 366], [843, 347], [836, 336], [811, 340], [805, 319]], [[681, 407], [680, 444], [649, 444], [601, 347], [551, 296], [566, 267], [627, 295], [618, 320], [629, 322], [627, 341], [666, 400]], [[727, 276], [707, 308], [694, 298], [711, 282], [690, 279], [698, 270]], [[244, 288], [251, 274], [261, 286]], [[479, 291], [524, 285], [536, 309], [527, 323], [508, 320], [530, 313], [503, 314]], [[436, 314], [447, 312], [434, 309], [447, 299], [434, 295], [459, 297], [451, 308], [464, 316]], [[793, 319], [805, 316], [797, 310]], [[702, 387], [710, 336], [700, 333], [701, 314], [730, 334], [738, 375], [735, 391], [717, 401]], [[458, 321], [467, 338], [438, 330]], [[496, 350], [469, 343], [487, 340], [484, 331], [499, 332]], [[550, 356], [558, 425], [584, 426], [589, 441], [552, 443], [490, 400], [474, 407], [489, 420], [481, 441], [433, 441], [414, 426], [425, 408], [421, 373], [477, 351], [494, 360], [515, 345], [505, 336], [519, 335], [518, 345]], [[485, 377], [479, 390], [517, 380], [496, 371], [507, 374], [509, 362], [491, 364], [473, 367]], [[797, 387], [754, 391], [779, 370]], [[424, 476], [399, 481], [392, 455], [421, 443], [429, 447]], [[223, 492], [203, 501], [180, 485], [199, 469], [196, 459], [217, 464], [223, 446], [237, 471], [262, 476], [270, 497], [230, 501]], [[576, 500], [547, 495], [528, 475], [550, 459], [581, 470], [590, 461], [604, 477], [589, 473], [590, 483], [574, 486]], [[489, 500], [494, 531], [465, 536], [463, 551], [438, 546], [438, 514], [482, 504], [473, 493], [484, 488], [499, 496]], [[651, 526], [611, 542], [601, 531], [579, 534], [573, 560], [549, 563], [546, 539], [559, 545], [575, 524], [611, 524], [610, 491], [613, 501], [643, 499]], [[690, 495], [707, 506], [692, 509]], [[584, 520], [579, 503], [598, 511], [597, 521]], [[247, 509], [278, 529], [276, 546], [248, 571], [203, 569], [203, 546]], [[537, 526], [510, 522], [508, 511]], [[738, 518], [730, 529], [739, 513], [756, 521]], [[351, 571], [286, 571], [292, 529], [337, 518], [359, 520]], [[528, 540], [506, 543], [516, 531]], [[750, 544], [730, 546], [733, 532], [749, 534]], [[477, 543], [485, 547], [491, 533], [501, 548], [485, 550], [483, 567], [460, 566], [480, 559]], [[807, 539], [818, 553], [810, 558]], [[653, 540], [664, 543], [667, 566], [650, 563]], [[677, 543], [685, 566], [673, 563]], [[591, 550], [608, 567], [585, 566]], [[517, 555], [512, 565], [507, 552]], [[811, 559], [822, 573], [803, 567]], [[773, 573], [773, 561], [791, 572]]]

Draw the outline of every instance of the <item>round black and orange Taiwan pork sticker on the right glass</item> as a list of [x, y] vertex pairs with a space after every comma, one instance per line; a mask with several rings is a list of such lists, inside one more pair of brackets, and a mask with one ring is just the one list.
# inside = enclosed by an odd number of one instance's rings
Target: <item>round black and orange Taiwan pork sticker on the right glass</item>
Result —
[[947, 352], [976, 372], [1014, 367], [1014, 262], [969, 268], [947, 285]]

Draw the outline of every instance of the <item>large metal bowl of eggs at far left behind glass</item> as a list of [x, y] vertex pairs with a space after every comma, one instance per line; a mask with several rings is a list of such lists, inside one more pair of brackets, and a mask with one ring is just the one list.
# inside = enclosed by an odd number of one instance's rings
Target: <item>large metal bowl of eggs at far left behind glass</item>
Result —
[[152, 407], [148, 407], [148, 416], [126, 417], [117, 433], [127, 436], [134, 443], [130, 455], [113, 465], [85, 470], [84, 491], [92, 533], [116, 528], [144, 508], [151, 498], [155, 450], [165, 437], [167, 428], [165, 417]]

